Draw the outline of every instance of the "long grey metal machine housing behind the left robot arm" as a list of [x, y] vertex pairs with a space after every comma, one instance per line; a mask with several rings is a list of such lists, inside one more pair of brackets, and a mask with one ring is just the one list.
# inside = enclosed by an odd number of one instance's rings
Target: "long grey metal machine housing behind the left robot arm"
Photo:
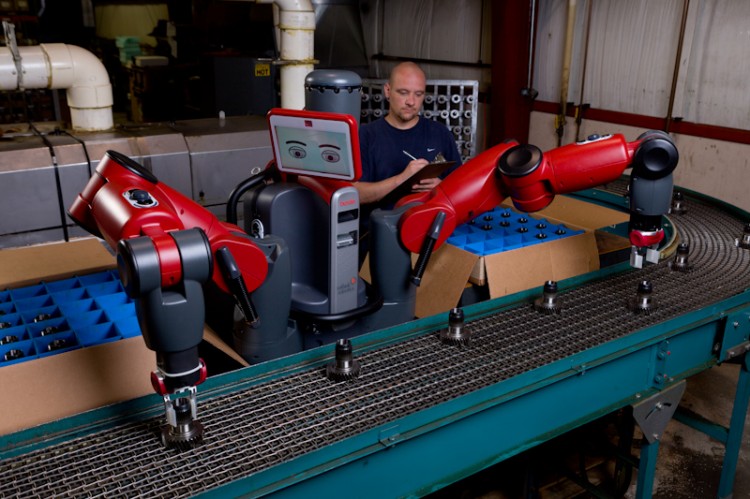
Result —
[[[67, 217], [97, 162], [116, 150], [214, 213], [228, 193], [273, 158], [261, 116], [71, 132], [18, 125], [0, 140], [0, 248], [86, 235]], [[29, 202], [33, 199], [34, 202]]]

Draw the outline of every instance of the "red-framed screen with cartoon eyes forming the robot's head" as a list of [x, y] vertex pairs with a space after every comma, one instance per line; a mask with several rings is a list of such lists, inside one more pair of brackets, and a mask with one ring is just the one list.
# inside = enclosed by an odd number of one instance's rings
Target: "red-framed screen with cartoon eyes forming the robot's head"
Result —
[[[296, 113], [303, 114], [303, 111]], [[322, 115], [322, 113], [311, 113]], [[276, 166], [285, 173], [355, 180], [351, 124], [312, 116], [270, 115]], [[358, 151], [357, 151], [358, 152]]]

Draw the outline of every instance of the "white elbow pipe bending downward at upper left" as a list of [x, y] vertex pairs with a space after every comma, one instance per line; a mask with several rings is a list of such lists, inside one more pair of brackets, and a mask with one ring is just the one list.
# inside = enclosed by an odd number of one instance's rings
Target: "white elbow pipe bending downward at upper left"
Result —
[[113, 127], [112, 85], [104, 64], [75, 45], [50, 43], [18, 47], [21, 73], [8, 47], [0, 47], [0, 90], [66, 89], [74, 130]]

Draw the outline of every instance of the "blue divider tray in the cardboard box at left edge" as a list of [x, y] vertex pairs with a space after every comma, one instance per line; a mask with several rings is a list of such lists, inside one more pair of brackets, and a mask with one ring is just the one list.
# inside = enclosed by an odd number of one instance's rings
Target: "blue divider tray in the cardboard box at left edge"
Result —
[[0, 291], [0, 367], [140, 334], [115, 270]]

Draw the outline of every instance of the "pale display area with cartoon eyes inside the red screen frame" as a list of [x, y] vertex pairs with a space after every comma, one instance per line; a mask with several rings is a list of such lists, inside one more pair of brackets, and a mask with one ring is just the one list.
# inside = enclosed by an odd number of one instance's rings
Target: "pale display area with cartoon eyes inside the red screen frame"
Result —
[[344, 134], [277, 126], [281, 163], [287, 168], [345, 175], [351, 158]]

